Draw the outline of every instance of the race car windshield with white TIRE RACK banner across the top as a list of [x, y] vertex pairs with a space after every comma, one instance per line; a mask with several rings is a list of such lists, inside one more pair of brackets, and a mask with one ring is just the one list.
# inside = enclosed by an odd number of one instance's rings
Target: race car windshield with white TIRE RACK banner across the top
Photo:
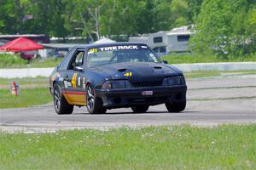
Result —
[[88, 50], [88, 66], [96, 67], [124, 62], [154, 62], [160, 59], [143, 45], [117, 45]]

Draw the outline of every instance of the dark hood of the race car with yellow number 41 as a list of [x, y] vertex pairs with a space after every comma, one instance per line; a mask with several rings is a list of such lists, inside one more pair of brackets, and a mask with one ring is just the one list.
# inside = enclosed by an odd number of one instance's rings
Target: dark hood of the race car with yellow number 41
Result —
[[108, 75], [113, 80], [128, 79], [131, 82], [162, 81], [166, 76], [175, 76], [181, 73], [170, 65], [149, 62], [102, 65], [93, 70], [100, 74]]

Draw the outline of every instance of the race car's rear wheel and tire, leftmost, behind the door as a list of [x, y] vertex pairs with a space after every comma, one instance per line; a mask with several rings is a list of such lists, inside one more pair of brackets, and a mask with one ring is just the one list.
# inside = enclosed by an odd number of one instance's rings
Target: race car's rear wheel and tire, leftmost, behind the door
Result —
[[73, 105], [69, 105], [67, 100], [61, 93], [61, 87], [59, 84], [54, 85], [54, 105], [55, 111], [58, 115], [70, 115], [73, 112]]

